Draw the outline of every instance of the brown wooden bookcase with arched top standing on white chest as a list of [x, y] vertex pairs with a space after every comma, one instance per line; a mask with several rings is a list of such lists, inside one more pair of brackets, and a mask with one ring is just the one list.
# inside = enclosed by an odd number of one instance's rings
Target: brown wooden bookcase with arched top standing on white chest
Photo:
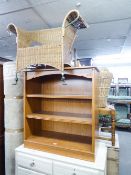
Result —
[[95, 67], [25, 73], [24, 145], [84, 160], [95, 160]]

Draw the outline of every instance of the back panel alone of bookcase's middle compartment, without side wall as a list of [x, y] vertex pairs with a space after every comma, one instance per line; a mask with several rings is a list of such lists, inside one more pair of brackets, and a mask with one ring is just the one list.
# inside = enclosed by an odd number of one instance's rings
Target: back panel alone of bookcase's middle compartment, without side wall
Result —
[[91, 100], [43, 99], [42, 111], [91, 114]]

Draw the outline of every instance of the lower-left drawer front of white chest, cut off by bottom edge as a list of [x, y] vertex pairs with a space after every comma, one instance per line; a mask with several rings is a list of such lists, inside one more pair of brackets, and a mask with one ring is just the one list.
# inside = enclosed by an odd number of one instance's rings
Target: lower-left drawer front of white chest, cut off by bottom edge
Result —
[[33, 172], [31, 170], [27, 170], [25, 168], [18, 167], [17, 175], [46, 175], [37, 172]]

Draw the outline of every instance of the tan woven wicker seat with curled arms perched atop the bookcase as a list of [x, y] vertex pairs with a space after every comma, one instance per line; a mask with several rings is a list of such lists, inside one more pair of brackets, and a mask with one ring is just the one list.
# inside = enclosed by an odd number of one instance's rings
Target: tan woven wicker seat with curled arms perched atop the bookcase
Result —
[[17, 71], [30, 65], [44, 64], [64, 70], [71, 62], [71, 49], [78, 29], [86, 28], [77, 10], [70, 11], [62, 27], [25, 31], [14, 24], [8, 30], [17, 35]]

